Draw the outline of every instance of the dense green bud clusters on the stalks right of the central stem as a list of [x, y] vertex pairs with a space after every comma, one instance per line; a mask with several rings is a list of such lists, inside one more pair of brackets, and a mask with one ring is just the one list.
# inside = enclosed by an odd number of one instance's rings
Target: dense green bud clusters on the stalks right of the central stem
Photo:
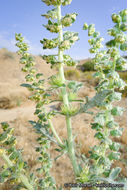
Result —
[[[97, 175], [110, 175], [111, 164], [114, 160], [120, 158], [119, 144], [113, 142], [109, 137], [120, 137], [122, 135], [122, 129], [118, 123], [115, 122], [114, 116], [120, 116], [123, 113], [123, 108], [113, 107], [112, 102], [121, 100], [121, 93], [115, 92], [115, 89], [124, 89], [126, 83], [120, 79], [116, 70], [122, 70], [123, 66], [127, 64], [126, 60], [120, 56], [119, 47], [123, 51], [127, 36], [121, 31], [121, 22], [123, 22], [122, 16], [126, 15], [126, 10], [120, 12], [120, 15], [113, 14], [112, 20], [117, 23], [113, 29], [108, 30], [111, 36], [115, 37], [110, 42], [106, 43], [108, 50], [99, 50], [101, 46], [102, 38], [94, 36], [95, 29], [93, 25], [90, 27], [85, 23], [84, 29], [88, 29], [88, 35], [92, 35], [92, 39], [89, 40], [89, 44], [92, 46], [91, 53], [96, 53], [93, 59], [95, 63], [95, 69], [97, 72], [95, 77], [99, 78], [99, 84], [95, 87], [97, 92], [103, 90], [111, 90], [112, 93], [108, 95], [105, 100], [98, 106], [100, 112], [94, 117], [94, 123], [92, 123], [92, 129], [96, 130], [95, 138], [100, 141], [99, 146], [91, 148], [90, 158], [94, 160], [92, 166], [93, 171], [97, 172]], [[124, 18], [125, 21], [125, 18]], [[97, 44], [97, 45], [96, 45]], [[94, 48], [94, 49], [93, 49]], [[124, 49], [125, 48], [125, 49]]]

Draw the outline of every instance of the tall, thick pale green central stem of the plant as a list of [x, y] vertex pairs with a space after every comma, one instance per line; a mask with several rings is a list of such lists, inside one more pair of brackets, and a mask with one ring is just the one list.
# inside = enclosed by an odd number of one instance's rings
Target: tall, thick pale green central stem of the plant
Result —
[[[58, 7], [58, 24], [60, 26], [60, 32], [59, 32], [59, 43], [63, 41], [63, 29], [62, 29], [62, 24], [61, 24], [61, 6], [59, 5]], [[65, 83], [65, 76], [64, 76], [64, 67], [63, 67], [63, 51], [58, 48], [58, 59], [60, 64], [59, 67], [59, 76], [62, 79], [62, 82]], [[62, 88], [62, 95], [63, 95], [63, 103], [65, 106], [69, 108], [69, 101], [68, 101], [68, 94], [66, 91], [66, 87]], [[67, 124], [67, 135], [68, 135], [68, 153], [69, 157], [73, 166], [74, 174], [75, 176], [79, 176], [79, 167], [76, 161], [76, 156], [75, 156], [75, 150], [74, 150], [74, 142], [73, 142], [73, 135], [72, 135], [72, 126], [71, 126], [71, 117], [66, 116], [66, 124]]]

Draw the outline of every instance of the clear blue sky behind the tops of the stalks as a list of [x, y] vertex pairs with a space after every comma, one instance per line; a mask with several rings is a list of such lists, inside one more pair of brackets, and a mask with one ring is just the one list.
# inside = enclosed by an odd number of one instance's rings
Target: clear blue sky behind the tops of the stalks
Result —
[[[0, 0], [0, 48], [16, 51], [15, 32], [22, 33], [29, 43], [33, 54], [52, 54], [51, 50], [43, 50], [40, 40], [53, 38], [42, 24], [47, 20], [41, 17], [52, 7], [41, 0]], [[73, 0], [72, 4], [62, 9], [62, 14], [77, 12], [76, 22], [67, 30], [79, 32], [80, 40], [68, 51], [74, 59], [90, 57], [88, 35], [82, 30], [84, 22], [94, 23], [96, 30], [108, 40], [107, 29], [113, 26], [111, 14], [127, 8], [127, 0]], [[55, 53], [55, 50], [53, 50]]]

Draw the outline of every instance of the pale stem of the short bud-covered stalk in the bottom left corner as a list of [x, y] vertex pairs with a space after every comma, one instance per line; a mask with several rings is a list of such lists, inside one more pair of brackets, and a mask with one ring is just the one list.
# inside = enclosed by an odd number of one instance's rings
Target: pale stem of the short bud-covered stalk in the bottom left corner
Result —
[[[11, 162], [11, 160], [8, 158], [8, 156], [5, 153], [2, 154], [2, 158], [5, 160], [5, 162], [7, 163], [9, 167], [13, 166], [13, 163]], [[28, 190], [34, 190], [33, 186], [29, 183], [25, 175], [20, 174], [19, 178]]]

